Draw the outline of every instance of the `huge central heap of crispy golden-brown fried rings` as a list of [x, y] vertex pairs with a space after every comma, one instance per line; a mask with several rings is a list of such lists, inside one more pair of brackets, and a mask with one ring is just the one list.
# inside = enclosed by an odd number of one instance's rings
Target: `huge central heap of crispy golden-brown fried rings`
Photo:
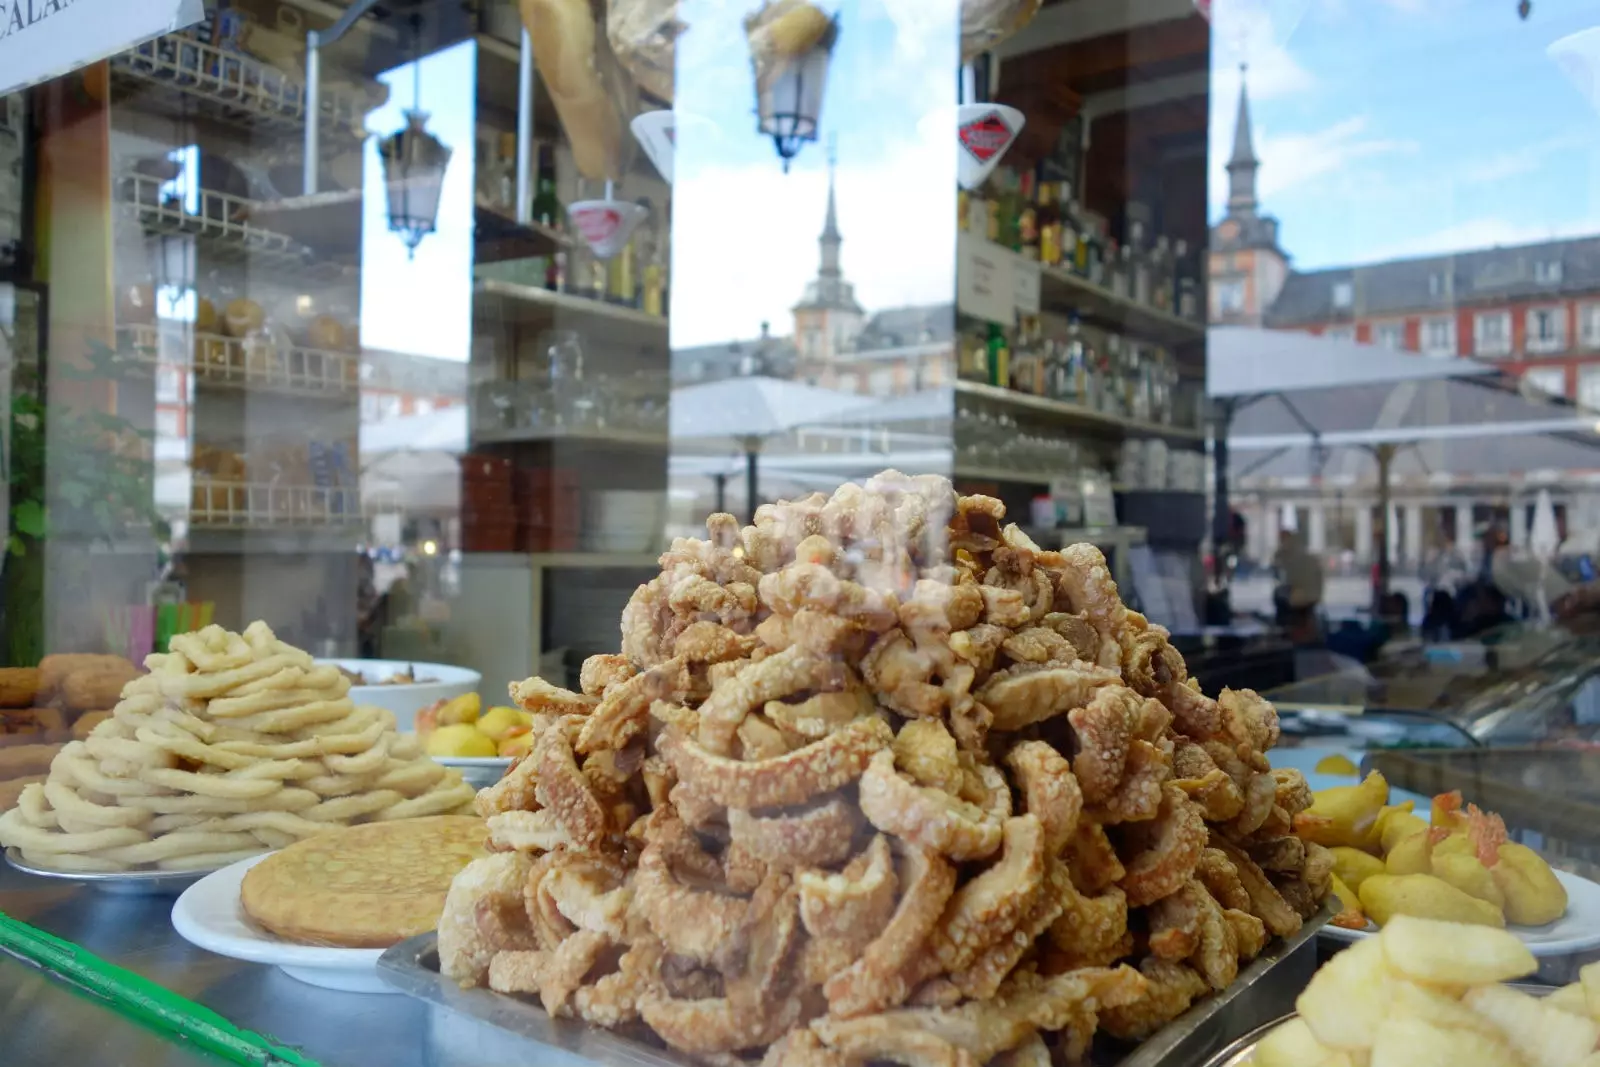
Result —
[[1003, 517], [886, 472], [675, 541], [582, 693], [512, 686], [443, 973], [726, 1062], [1043, 1064], [1299, 929], [1333, 861], [1274, 709]]

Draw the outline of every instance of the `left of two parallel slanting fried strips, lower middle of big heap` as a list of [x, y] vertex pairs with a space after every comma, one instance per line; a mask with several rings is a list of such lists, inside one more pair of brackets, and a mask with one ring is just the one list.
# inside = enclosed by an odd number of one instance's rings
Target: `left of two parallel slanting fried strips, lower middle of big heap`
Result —
[[942, 856], [909, 841], [898, 851], [902, 891], [894, 913], [861, 958], [822, 985], [835, 1016], [862, 1016], [906, 1003], [920, 977], [912, 966], [955, 893], [955, 867]]

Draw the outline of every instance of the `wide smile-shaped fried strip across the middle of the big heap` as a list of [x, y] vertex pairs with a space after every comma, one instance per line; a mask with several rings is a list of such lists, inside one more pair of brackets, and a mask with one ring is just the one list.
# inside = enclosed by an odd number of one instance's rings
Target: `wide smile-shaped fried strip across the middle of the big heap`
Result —
[[656, 750], [672, 763], [680, 787], [693, 789], [710, 803], [746, 809], [784, 808], [856, 781], [874, 753], [886, 749], [893, 737], [888, 723], [874, 717], [771, 760], [728, 760], [672, 729], [656, 739]]

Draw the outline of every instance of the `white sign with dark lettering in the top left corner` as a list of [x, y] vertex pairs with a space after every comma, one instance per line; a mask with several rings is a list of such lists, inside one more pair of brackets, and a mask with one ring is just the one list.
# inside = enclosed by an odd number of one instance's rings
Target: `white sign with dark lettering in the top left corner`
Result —
[[0, 0], [0, 96], [198, 22], [205, 0]]

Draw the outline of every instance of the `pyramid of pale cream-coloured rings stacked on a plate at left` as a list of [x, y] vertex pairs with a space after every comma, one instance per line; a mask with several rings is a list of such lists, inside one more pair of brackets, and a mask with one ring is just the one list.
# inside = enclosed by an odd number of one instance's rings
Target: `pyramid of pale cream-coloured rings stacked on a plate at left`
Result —
[[0, 845], [51, 870], [205, 870], [331, 825], [470, 809], [459, 774], [264, 622], [170, 648], [0, 814]]

